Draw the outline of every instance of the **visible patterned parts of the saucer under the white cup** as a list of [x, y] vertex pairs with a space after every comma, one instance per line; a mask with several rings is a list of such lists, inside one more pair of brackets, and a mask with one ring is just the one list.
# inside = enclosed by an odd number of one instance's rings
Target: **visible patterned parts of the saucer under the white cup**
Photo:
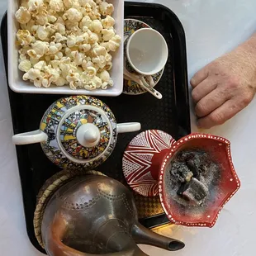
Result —
[[[135, 19], [125, 19], [124, 25], [124, 40], [130, 35], [132, 35], [135, 31], [140, 30], [141, 28], [150, 28], [148, 24], [143, 21], [135, 20]], [[154, 80], [153, 88], [159, 83], [162, 75], [164, 73], [164, 69], [159, 73], [155, 73], [152, 77]], [[149, 83], [149, 79], [146, 78], [146, 82]], [[131, 81], [130, 79], [124, 78], [124, 89], [123, 93], [129, 95], [140, 95], [147, 92], [144, 88], [141, 88], [138, 83]]]

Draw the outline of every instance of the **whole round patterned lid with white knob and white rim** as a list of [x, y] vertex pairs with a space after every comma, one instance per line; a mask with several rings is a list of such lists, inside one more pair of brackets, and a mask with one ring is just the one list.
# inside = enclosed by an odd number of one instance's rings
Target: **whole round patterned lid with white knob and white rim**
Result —
[[79, 164], [101, 158], [112, 137], [109, 117], [95, 106], [72, 107], [59, 122], [59, 147], [68, 159]]

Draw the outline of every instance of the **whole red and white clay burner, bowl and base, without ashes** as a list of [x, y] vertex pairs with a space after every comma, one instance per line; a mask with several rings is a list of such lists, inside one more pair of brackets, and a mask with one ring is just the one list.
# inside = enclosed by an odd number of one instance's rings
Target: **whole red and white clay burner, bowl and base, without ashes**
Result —
[[[185, 209], [186, 214], [168, 190], [170, 164], [173, 156], [183, 149], [203, 149], [220, 166], [214, 197], [206, 206], [196, 209], [198, 211]], [[135, 192], [145, 197], [159, 195], [168, 219], [176, 225], [214, 226], [220, 211], [240, 187], [232, 163], [230, 141], [215, 135], [193, 133], [175, 141], [162, 130], [146, 130], [130, 141], [123, 157], [123, 172]]]

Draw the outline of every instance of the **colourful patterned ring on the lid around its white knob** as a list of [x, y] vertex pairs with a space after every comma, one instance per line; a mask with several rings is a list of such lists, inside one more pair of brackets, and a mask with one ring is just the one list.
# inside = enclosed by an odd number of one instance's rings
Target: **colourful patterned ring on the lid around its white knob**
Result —
[[[78, 128], [88, 123], [97, 126], [101, 133], [99, 143], [92, 148], [83, 147], [76, 138]], [[64, 120], [60, 126], [59, 137], [66, 153], [70, 156], [76, 159], [94, 159], [107, 149], [111, 140], [111, 128], [100, 113], [83, 109], [74, 111]]]

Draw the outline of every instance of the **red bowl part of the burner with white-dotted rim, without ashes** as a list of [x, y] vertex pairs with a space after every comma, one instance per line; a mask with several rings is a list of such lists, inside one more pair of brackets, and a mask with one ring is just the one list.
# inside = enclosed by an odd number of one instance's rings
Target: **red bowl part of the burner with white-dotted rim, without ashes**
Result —
[[[188, 144], [192, 140], [205, 139], [204, 147], [208, 147], [209, 149], [214, 149], [212, 151], [213, 157], [219, 159], [219, 164], [223, 168], [222, 178], [220, 185], [218, 187], [218, 195], [216, 196], [216, 201], [208, 206], [204, 211], [203, 216], [198, 219], [198, 216], [190, 216], [188, 212], [186, 212], [186, 216], [181, 216], [180, 212], [171, 200], [166, 199], [168, 195], [168, 191], [164, 186], [164, 173], [167, 171], [168, 163], [173, 157], [173, 154], [180, 149], [181, 146]], [[202, 142], [200, 142], [201, 144]], [[216, 146], [219, 149], [216, 149]], [[224, 154], [223, 154], [224, 153]], [[176, 225], [186, 225], [186, 226], [199, 226], [199, 227], [213, 227], [216, 224], [216, 220], [220, 215], [220, 211], [222, 211], [225, 204], [230, 201], [230, 199], [235, 195], [235, 193], [239, 190], [240, 181], [235, 172], [234, 165], [232, 163], [231, 153], [230, 153], [230, 141], [225, 138], [214, 136], [214, 135], [205, 135], [194, 133], [191, 135], [187, 135], [183, 137], [181, 140], [172, 146], [168, 155], [165, 156], [163, 163], [161, 164], [161, 170], [159, 173], [159, 197], [163, 209], [168, 216], [168, 219], [171, 223]], [[184, 217], [188, 220], [184, 221]]]

